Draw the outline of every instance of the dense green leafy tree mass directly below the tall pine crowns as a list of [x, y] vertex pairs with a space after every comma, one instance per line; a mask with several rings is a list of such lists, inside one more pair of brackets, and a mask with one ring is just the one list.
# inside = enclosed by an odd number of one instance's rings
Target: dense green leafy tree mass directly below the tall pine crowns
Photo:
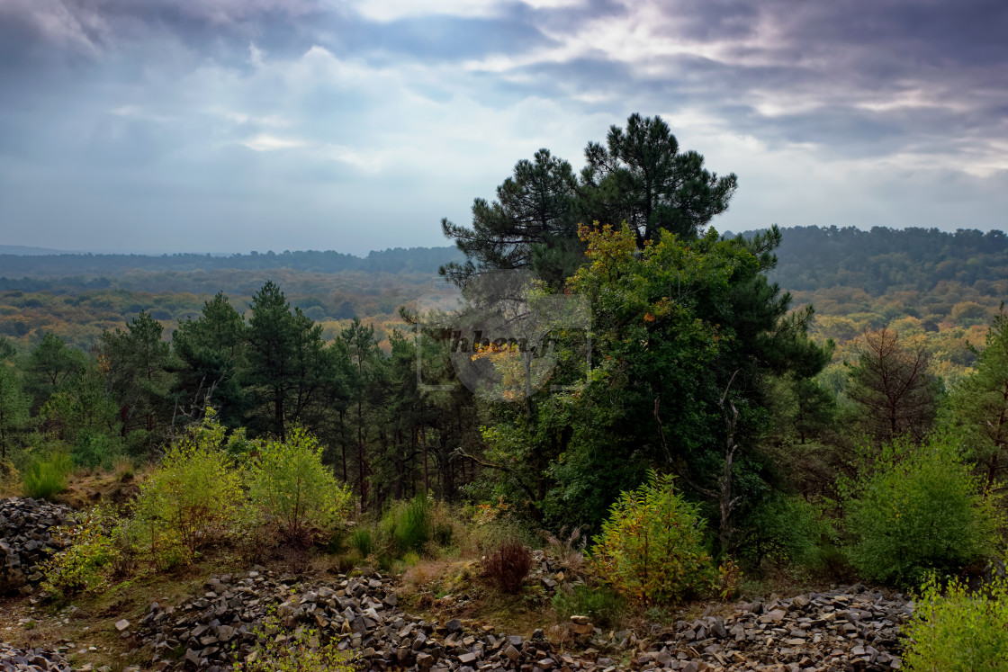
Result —
[[[592, 371], [571, 391], [536, 399], [531, 417], [499, 423], [493, 462], [523, 476], [533, 494], [544, 490], [542, 510], [557, 527], [595, 524], [650, 464], [674, 462], [717, 500], [730, 389], [739, 411], [733, 481], [760, 479], [766, 459], [750, 446], [768, 417], [764, 381], [810, 377], [830, 358], [829, 346], [807, 338], [811, 313], [788, 312], [790, 297], [764, 275], [780, 232], [753, 241], [666, 233], [643, 250], [628, 226], [582, 235], [589, 263], [566, 290], [591, 302]], [[739, 491], [740, 507], [756, 490]]]

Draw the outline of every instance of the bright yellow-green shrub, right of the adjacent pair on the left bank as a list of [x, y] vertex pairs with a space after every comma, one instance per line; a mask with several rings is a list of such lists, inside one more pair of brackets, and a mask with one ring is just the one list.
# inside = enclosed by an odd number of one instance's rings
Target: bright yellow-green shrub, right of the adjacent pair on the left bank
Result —
[[249, 499], [288, 537], [306, 527], [328, 528], [350, 504], [350, 491], [322, 463], [323, 447], [301, 427], [285, 441], [261, 446], [249, 469]]

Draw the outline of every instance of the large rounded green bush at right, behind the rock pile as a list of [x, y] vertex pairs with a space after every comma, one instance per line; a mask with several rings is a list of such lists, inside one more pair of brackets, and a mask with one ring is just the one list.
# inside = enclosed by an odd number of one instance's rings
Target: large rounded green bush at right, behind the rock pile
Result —
[[848, 556], [865, 576], [914, 584], [988, 556], [997, 514], [952, 438], [887, 445], [846, 503]]

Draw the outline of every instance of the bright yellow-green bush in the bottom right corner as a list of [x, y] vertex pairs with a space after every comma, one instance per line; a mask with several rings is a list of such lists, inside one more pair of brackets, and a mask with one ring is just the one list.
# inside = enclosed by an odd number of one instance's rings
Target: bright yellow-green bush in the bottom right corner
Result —
[[944, 594], [933, 575], [904, 629], [910, 672], [1008, 671], [1008, 583], [995, 579], [971, 593], [958, 580]]

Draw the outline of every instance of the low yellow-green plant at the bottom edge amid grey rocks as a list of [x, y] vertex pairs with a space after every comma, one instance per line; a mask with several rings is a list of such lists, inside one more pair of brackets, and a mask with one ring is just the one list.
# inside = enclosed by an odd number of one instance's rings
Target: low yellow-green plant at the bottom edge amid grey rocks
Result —
[[236, 672], [354, 672], [353, 657], [340, 651], [336, 639], [324, 643], [313, 629], [303, 626], [292, 633], [275, 615], [266, 617], [253, 633], [256, 645]]

